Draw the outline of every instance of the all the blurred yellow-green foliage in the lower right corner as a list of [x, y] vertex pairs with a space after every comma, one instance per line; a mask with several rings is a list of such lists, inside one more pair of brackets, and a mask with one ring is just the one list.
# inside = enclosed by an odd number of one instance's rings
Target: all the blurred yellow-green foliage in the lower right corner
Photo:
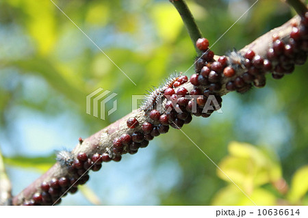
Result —
[[[281, 164], [274, 154], [235, 141], [229, 144], [228, 149], [229, 155], [220, 162], [221, 171], [218, 170], [217, 174], [229, 185], [218, 191], [212, 204], [251, 205], [246, 195], [257, 205], [301, 205], [307, 202], [308, 165], [295, 172], [289, 188], [283, 178]], [[238, 187], [225, 174], [233, 178]]]

